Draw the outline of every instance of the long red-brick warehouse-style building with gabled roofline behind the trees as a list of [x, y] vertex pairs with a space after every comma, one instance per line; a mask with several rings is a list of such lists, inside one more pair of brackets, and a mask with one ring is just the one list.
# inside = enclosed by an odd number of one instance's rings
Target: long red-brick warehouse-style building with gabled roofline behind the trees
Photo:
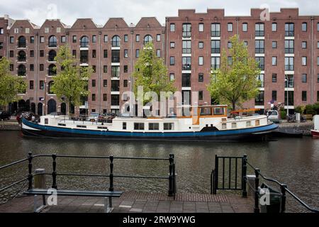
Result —
[[[259, 62], [262, 86], [256, 100], [245, 107], [269, 109], [270, 101], [284, 103], [293, 111], [299, 105], [319, 101], [319, 16], [299, 16], [298, 9], [281, 9], [261, 20], [262, 10], [250, 16], [225, 16], [223, 9], [206, 13], [179, 10], [167, 17], [165, 26], [156, 18], [141, 18], [134, 26], [123, 18], [110, 18], [105, 26], [91, 19], [77, 19], [72, 26], [47, 20], [35, 26], [27, 20], [0, 18], [0, 56], [11, 60], [13, 74], [26, 78], [28, 88], [18, 106], [30, 106], [38, 114], [66, 111], [65, 104], [50, 92], [56, 72], [54, 57], [68, 44], [80, 64], [92, 66], [89, 97], [78, 111], [118, 113], [125, 102], [121, 94], [131, 90], [131, 73], [140, 50], [152, 41], [163, 57], [169, 79], [184, 94], [198, 92], [198, 104], [211, 104], [206, 90], [211, 68], [220, 66], [220, 52], [230, 48], [229, 38], [239, 35]], [[229, 56], [230, 57], [230, 56]], [[57, 68], [59, 70], [59, 68]], [[88, 106], [85, 106], [88, 101]], [[287, 106], [287, 101], [289, 106]]]

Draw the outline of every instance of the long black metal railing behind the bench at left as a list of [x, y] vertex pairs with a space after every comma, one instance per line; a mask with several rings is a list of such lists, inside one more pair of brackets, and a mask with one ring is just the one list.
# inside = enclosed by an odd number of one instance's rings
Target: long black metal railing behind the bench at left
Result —
[[[52, 157], [52, 172], [51, 173], [39, 173], [35, 174], [32, 172], [33, 170], [33, 160], [38, 157]], [[91, 175], [91, 174], [74, 174], [74, 173], [60, 173], [57, 172], [57, 159], [58, 158], [82, 158], [82, 159], [104, 159], [104, 160], [110, 160], [109, 165], [109, 174], [108, 175]], [[131, 175], [115, 175], [113, 172], [114, 167], [114, 160], [168, 160], [169, 161], [169, 175], [167, 176], [131, 176]], [[16, 162], [12, 162], [9, 165], [4, 165], [0, 167], [0, 170], [4, 170], [8, 167], [12, 167], [14, 165], [17, 165], [21, 162], [28, 161], [28, 175], [26, 178], [20, 179], [17, 182], [14, 182], [10, 184], [9, 186], [6, 186], [2, 189], [0, 189], [0, 192], [5, 191], [6, 189], [9, 189], [13, 186], [16, 186], [17, 184], [20, 184], [21, 182], [26, 182], [28, 180], [28, 189], [33, 188], [33, 177], [35, 175], [51, 175], [52, 176], [52, 188], [57, 189], [57, 176], [73, 176], [73, 177], [108, 177], [109, 178], [109, 188], [108, 190], [113, 192], [114, 189], [114, 178], [140, 178], [140, 179], [168, 179], [169, 181], [169, 190], [168, 195], [174, 196], [177, 193], [177, 187], [176, 187], [176, 169], [175, 169], [175, 158], [173, 154], [169, 155], [169, 158], [155, 158], [155, 157], [113, 157], [111, 156], [79, 156], [79, 155], [32, 155], [32, 153], [28, 153], [28, 157], [23, 160], [18, 160]]]

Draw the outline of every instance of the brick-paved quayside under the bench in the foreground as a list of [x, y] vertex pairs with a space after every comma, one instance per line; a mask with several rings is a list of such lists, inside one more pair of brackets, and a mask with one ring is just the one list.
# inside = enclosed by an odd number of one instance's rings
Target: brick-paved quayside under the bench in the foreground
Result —
[[[42, 197], [39, 196], [39, 202]], [[162, 193], [125, 192], [113, 198], [113, 213], [251, 213], [252, 199], [229, 194], [178, 193], [176, 199]], [[101, 213], [103, 198], [59, 196], [57, 206], [47, 206], [44, 213]], [[0, 213], [33, 212], [33, 196], [21, 196], [0, 205]]]

